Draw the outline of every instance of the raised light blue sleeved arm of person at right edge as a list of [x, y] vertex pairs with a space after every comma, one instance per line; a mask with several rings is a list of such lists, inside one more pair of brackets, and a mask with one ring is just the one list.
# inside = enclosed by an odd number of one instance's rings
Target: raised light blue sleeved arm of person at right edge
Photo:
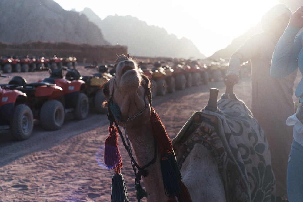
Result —
[[301, 32], [303, 27], [303, 6], [298, 8], [292, 15], [287, 28], [280, 37], [271, 60], [270, 74], [272, 77], [282, 78], [298, 68], [298, 55], [302, 49]]

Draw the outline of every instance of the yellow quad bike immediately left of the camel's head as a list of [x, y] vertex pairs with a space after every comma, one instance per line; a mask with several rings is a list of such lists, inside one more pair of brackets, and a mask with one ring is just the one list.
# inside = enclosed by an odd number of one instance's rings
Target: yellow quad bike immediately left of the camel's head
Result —
[[108, 112], [107, 108], [102, 107], [102, 103], [105, 101], [102, 85], [112, 78], [107, 69], [104, 69], [104, 72], [95, 73], [91, 76], [80, 76], [78, 70], [70, 69], [66, 72], [65, 78], [69, 81], [76, 79], [83, 80], [85, 82], [83, 93], [88, 97], [89, 106], [97, 113], [106, 114]]

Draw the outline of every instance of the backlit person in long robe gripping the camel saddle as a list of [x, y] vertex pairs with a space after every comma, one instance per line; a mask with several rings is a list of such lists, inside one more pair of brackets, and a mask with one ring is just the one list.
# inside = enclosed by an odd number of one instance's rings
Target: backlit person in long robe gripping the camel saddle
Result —
[[277, 79], [270, 76], [270, 66], [275, 45], [291, 14], [284, 4], [275, 5], [266, 12], [261, 18], [263, 32], [251, 36], [232, 54], [224, 79], [226, 85], [238, 83], [241, 64], [251, 61], [251, 112], [268, 140], [276, 196], [280, 199], [287, 194], [287, 162], [293, 138], [292, 127], [285, 121], [295, 111], [292, 95], [296, 72]]

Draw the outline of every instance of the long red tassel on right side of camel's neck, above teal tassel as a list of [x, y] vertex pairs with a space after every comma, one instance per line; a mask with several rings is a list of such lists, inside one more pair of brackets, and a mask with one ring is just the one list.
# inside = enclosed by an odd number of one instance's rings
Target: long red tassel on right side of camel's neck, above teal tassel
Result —
[[165, 127], [161, 122], [158, 114], [155, 113], [154, 108], [152, 108], [150, 124], [151, 124], [153, 135], [157, 140], [161, 155], [172, 153], [173, 149], [172, 149], [171, 140], [169, 139]]

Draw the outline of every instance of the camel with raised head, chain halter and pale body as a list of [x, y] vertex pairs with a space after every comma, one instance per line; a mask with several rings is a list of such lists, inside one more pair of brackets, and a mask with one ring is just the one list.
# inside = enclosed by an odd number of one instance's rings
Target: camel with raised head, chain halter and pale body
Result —
[[[116, 75], [102, 87], [106, 97], [104, 106], [109, 109], [109, 119], [111, 114], [114, 117], [113, 122], [116, 123], [119, 133], [122, 133], [119, 126], [124, 129], [126, 140], [129, 140], [135, 152], [138, 167], [143, 167], [146, 171], [145, 174], [142, 174], [143, 172], [140, 174], [143, 176], [147, 201], [228, 201], [228, 193], [226, 193], [226, 187], [224, 186], [226, 182], [222, 180], [218, 163], [211, 151], [203, 144], [194, 144], [179, 171], [182, 176], [182, 183], [185, 185], [183, 187], [185, 192], [182, 192], [182, 194], [189, 193], [190, 196], [182, 199], [178, 197], [180, 192], [178, 194], [168, 194], [164, 183], [166, 174], [162, 175], [161, 171], [161, 158], [163, 158], [161, 146], [159, 146], [161, 143], [159, 143], [160, 141], [157, 142], [155, 133], [153, 133], [154, 126], [150, 121], [151, 116], [155, 115], [155, 110], [151, 106], [150, 81], [139, 72], [137, 62], [128, 56], [118, 56], [115, 67]], [[212, 124], [218, 124], [218, 119], [211, 113], [204, 113], [202, 116], [210, 120]], [[164, 126], [163, 130], [165, 130]], [[184, 153], [184, 151], [180, 151], [182, 147], [179, 144], [175, 143], [174, 145], [174, 147], [176, 146], [175, 152], [178, 153], [175, 160], [178, 163]], [[127, 149], [130, 150], [130, 146]], [[131, 151], [128, 151], [128, 153], [132, 154]], [[174, 151], [173, 155], [175, 156]], [[133, 163], [136, 165], [136, 162]], [[118, 164], [116, 162], [112, 166], [115, 167], [116, 174], [120, 173], [122, 167], [122, 164], [117, 166]], [[139, 179], [136, 175], [139, 185], [141, 175], [139, 175]], [[249, 185], [246, 183], [245, 186], [248, 187]], [[247, 201], [252, 200], [248, 197]]]

